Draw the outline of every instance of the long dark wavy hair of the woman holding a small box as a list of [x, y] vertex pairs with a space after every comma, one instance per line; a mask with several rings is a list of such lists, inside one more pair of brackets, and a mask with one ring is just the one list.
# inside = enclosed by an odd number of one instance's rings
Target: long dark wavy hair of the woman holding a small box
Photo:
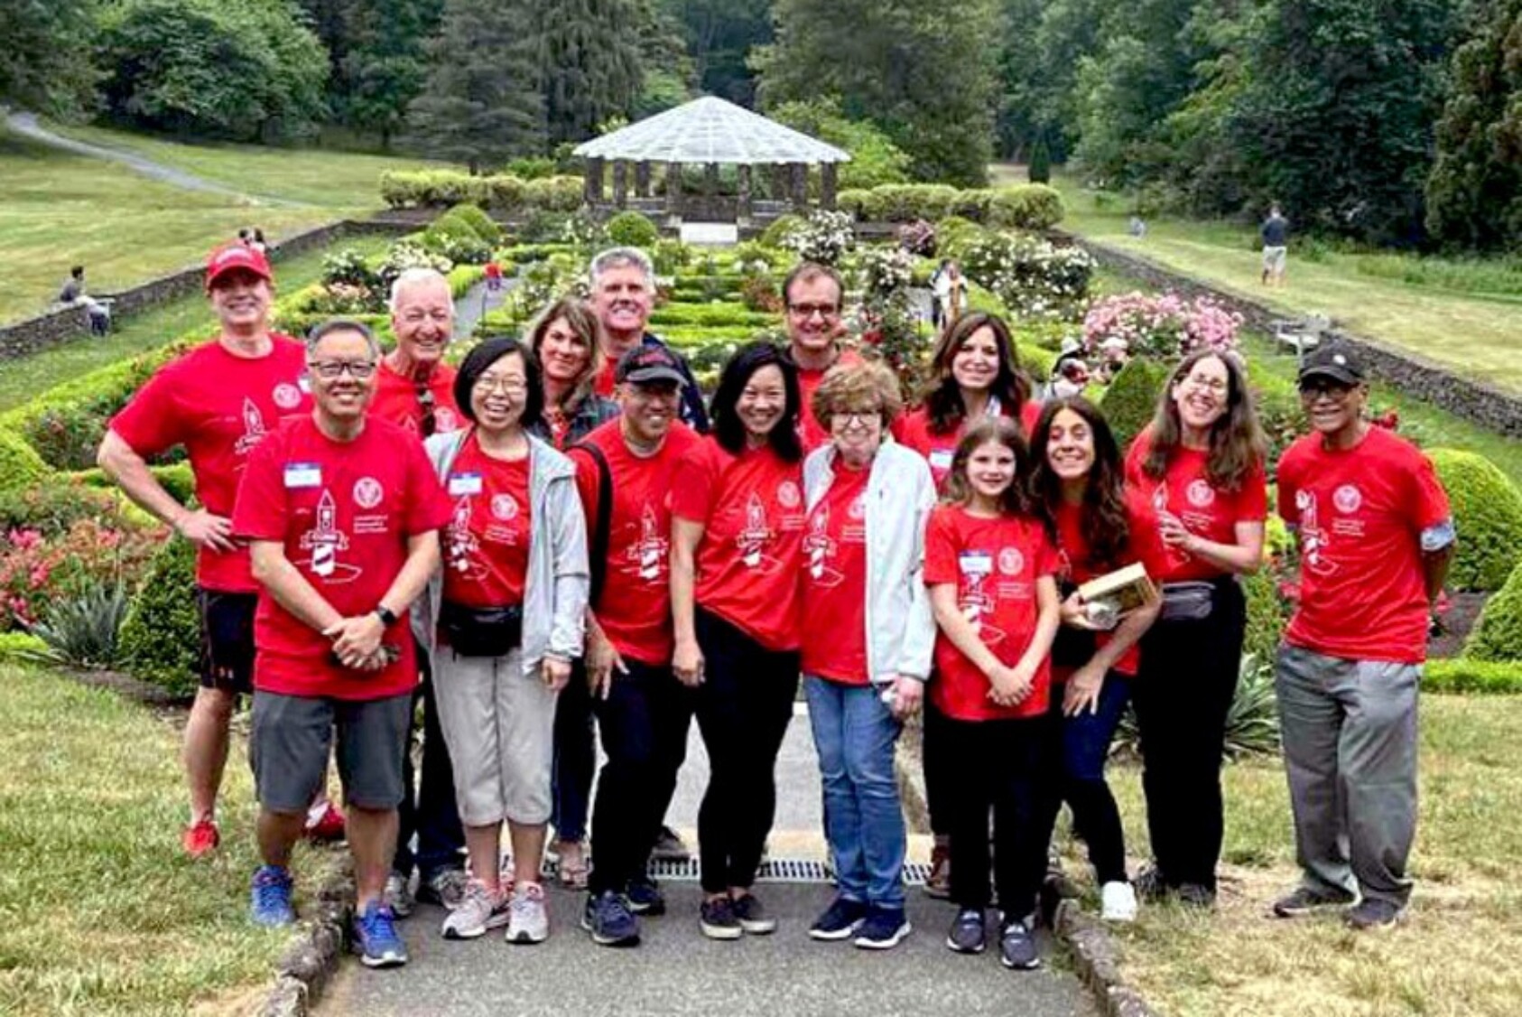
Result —
[[1041, 405], [1041, 417], [1030, 432], [1030, 501], [1047, 528], [1052, 544], [1059, 542], [1056, 516], [1062, 505], [1062, 478], [1047, 460], [1047, 445], [1052, 442], [1052, 422], [1064, 410], [1076, 414], [1088, 425], [1094, 438], [1094, 464], [1088, 470], [1088, 486], [1084, 489], [1082, 531], [1088, 545], [1090, 569], [1108, 569], [1120, 562], [1131, 545], [1131, 525], [1126, 519], [1125, 466], [1120, 446], [1110, 429], [1110, 422], [1099, 408], [1082, 396], [1049, 399]]

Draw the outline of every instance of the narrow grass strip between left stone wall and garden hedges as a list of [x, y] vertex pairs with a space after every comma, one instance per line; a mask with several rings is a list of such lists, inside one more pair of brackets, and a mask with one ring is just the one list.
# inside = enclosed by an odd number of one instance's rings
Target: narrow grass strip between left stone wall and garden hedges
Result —
[[[344, 241], [341, 247], [374, 253], [385, 245], [385, 238], [367, 236]], [[317, 282], [323, 274], [324, 253], [310, 251], [277, 260], [274, 266], [277, 294]], [[11, 410], [70, 378], [163, 346], [190, 329], [205, 329], [210, 335], [215, 321], [205, 298], [192, 294], [125, 318], [103, 340], [76, 336], [18, 361], [0, 361], [0, 411]]]

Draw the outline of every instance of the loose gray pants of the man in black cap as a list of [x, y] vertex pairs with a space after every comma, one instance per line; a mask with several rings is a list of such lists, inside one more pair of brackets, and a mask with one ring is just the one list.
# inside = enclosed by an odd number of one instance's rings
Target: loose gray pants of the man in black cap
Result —
[[1400, 907], [1411, 897], [1420, 677], [1415, 664], [1280, 646], [1278, 723], [1295, 854], [1309, 889], [1361, 892]]

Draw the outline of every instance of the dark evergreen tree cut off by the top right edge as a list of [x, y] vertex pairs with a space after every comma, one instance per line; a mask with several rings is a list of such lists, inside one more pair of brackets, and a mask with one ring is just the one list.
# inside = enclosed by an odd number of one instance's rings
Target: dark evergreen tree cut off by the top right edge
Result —
[[1522, 248], [1522, 0], [1485, 0], [1454, 53], [1437, 125], [1428, 228], [1447, 244]]

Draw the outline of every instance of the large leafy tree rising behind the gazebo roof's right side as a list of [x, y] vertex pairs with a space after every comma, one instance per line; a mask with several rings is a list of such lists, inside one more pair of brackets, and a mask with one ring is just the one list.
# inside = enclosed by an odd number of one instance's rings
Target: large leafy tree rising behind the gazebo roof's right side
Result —
[[753, 56], [763, 105], [837, 94], [909, 152], [915, 177], [986, 181], [997, 0], [776, 0], [773, 18], [776, 41]]

